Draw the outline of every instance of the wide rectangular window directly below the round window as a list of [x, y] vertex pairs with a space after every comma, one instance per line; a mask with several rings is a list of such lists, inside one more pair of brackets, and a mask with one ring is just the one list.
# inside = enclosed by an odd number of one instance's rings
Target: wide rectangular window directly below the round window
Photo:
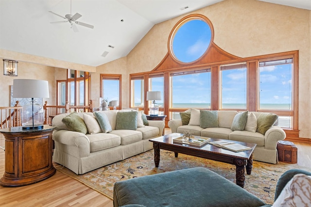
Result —
[[171, 73], [171, 107], [210, 109], [210, 82], [210, 69]]

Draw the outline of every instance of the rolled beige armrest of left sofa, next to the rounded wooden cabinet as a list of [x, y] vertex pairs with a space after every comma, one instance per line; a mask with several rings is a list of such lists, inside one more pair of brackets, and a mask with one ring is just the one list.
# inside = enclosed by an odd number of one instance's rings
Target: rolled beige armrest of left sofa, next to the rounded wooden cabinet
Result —
[[[90, 142], [88, 137], [77, 131], [69, 130], [54, 130], [53, 140], [58, 143], [62, 143], [69, 146], [76, 146], [78, 152], [66, 152], [71, 155], [79, 154], [80, 158], [89, 156], [91, 152]], [[71, 148], [72, 149], [72, 148]]]

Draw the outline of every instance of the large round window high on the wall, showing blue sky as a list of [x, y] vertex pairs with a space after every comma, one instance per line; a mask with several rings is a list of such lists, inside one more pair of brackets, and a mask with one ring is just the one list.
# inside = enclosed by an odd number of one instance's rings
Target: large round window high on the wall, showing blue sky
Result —
[[212, 29], [207, 21], [198, 16], [181, 20], [174, 27], [170, 38], [173, 57], [182, 63], [191, 63], [199, 59], [209, 47]]

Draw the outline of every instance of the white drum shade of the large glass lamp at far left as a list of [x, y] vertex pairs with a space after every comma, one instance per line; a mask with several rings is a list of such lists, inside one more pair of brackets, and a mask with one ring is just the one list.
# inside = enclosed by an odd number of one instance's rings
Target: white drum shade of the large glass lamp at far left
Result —
[[14, 98], [49, 98], [49, 82], [47, 80], [14, 79]]

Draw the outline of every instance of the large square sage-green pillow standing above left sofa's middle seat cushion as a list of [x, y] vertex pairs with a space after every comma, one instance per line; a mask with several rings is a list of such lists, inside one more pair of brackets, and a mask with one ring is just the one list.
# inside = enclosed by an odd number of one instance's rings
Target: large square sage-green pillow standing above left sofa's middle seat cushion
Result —
[[138, 111], [118, 111], [116, 130], [118, 129], [137, 129]]

